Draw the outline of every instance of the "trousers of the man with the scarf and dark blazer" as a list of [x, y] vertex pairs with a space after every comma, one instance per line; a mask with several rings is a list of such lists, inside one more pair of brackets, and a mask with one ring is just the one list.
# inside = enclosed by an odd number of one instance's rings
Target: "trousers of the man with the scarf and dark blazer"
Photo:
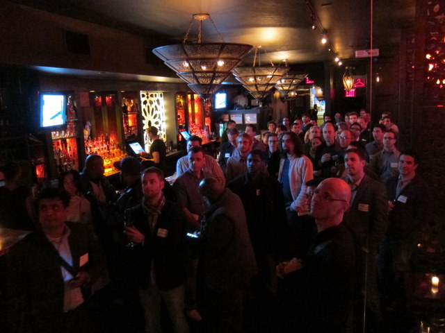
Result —
[[150, 284], [146, 290], [139, 289], [140, 304], [144, 310], [145, 333], [161, 333], [161, 301], [165, 303], [173, 324], [173, 332], [188, 333], [184, 314], [184, 284], [168, 291], [159, 290]]

